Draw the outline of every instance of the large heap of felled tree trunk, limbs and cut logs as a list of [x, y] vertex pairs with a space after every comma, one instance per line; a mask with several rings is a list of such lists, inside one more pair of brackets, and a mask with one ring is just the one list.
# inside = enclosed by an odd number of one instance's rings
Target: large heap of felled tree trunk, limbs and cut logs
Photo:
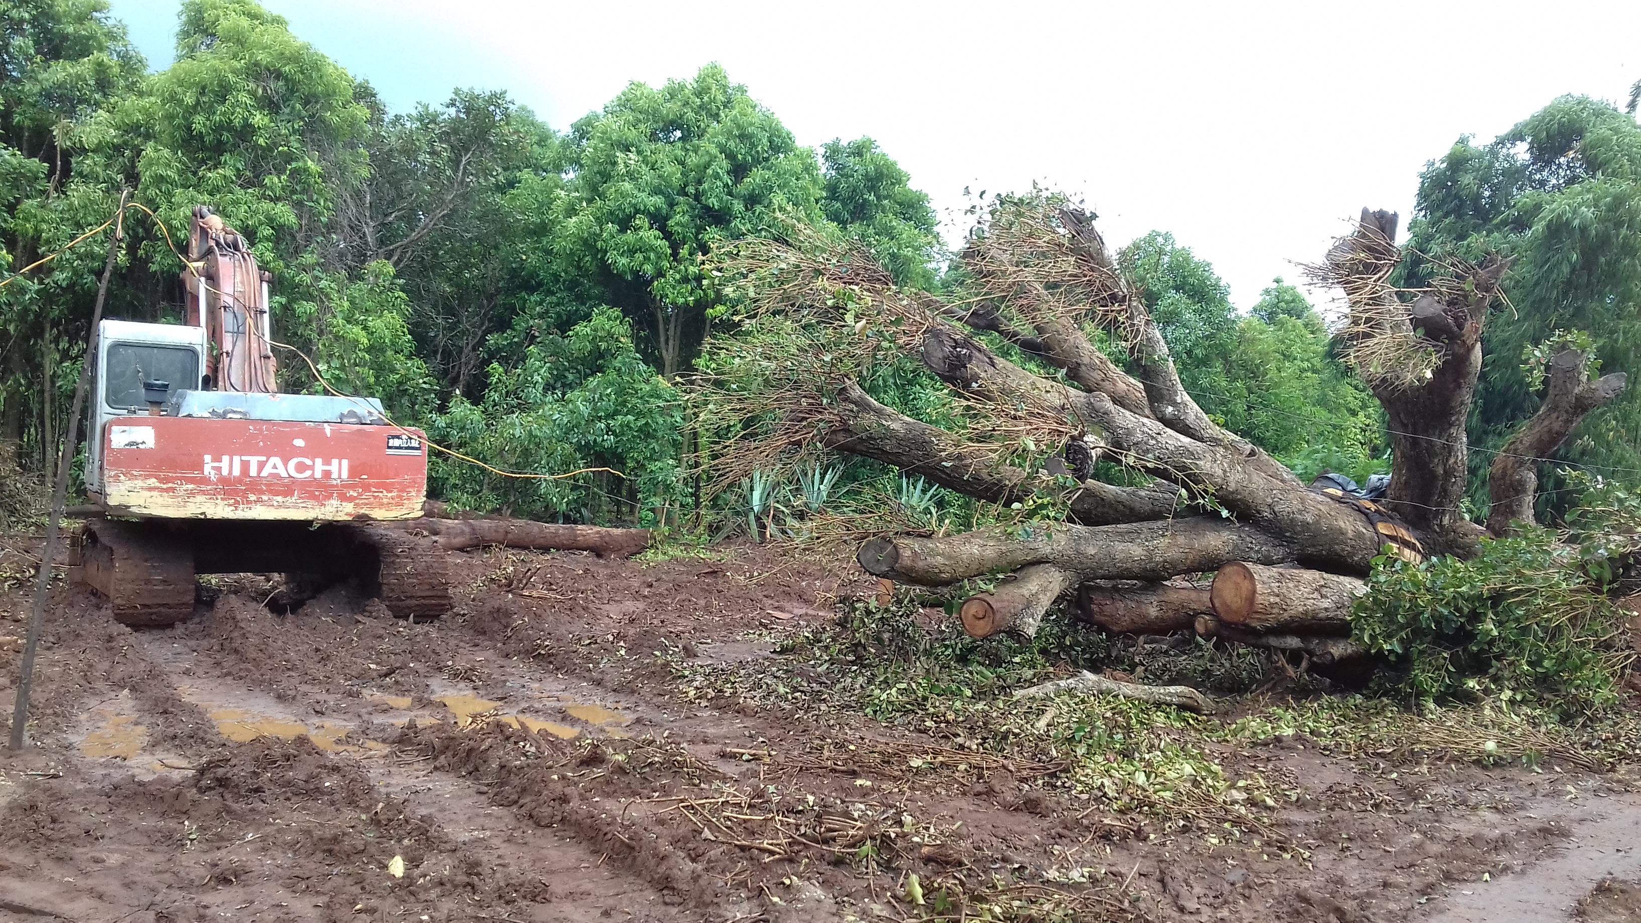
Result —
[[[1351, 606], [1375, 557], [1387, 545], [1470, 557], [1531, 524], [1539, 460], [1625, 386], [1559, 350], [1538, 416], [1492, 466], [1490, 517], [1472, 522], [1465, 419], [1508, 261], [1447, 264], [1428, 287], [1398, 289], [1395, 233], [1396, 215], [1364, 209], [1313, 269], [1344, 292], [1347, 361], [1390, 420], [1378, 504], [1313, 489], [1214, 424], [1093, 217], [1047, 195], [991, 209], [960, 255], [957, 297], [899, 289], [860, 246], [802, 228], [719, 251], [711, 271], [738, 305], [738, 333], [689, 386], [697, 425], [720, 437], [715, 486], [824, 448], [1032, 511], [860, 547], [863, 568], [899, 583], [1004, 575], [962, 608], [975, 636], [1032, 634], [1075, 593], [1076, 611], [1111, 631], [1190, 627], [1323, 664], [1355, 657]], [[912, 365], [955, 399], [944, 425], [868, 394]], [[1216, 575], [1211, 590], [1170, 583], [1201, 573]]]

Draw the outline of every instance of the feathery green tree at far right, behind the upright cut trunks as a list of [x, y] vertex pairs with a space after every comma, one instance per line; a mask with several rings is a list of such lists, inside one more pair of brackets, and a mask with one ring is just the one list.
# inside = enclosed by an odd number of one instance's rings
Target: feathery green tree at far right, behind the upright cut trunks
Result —
[[[1515, 258], [1510, 307], [1493, 312], [1483, 340], [1470, 420], [1483, 448], [1538, 409], [1523, 356], [1557, 330], [1588, 332], [1603, 371], [1641, 368], [1641, 126], [1613, 105], [1561, 97], [1490, 145], [1460, 138], [1424, 169], [1410, 232], [1413, 250], [1429, 255], [1405, 268], [1415, 284], [1446, 259]], [[1590, 414], [1557, 458], [1633, 480], [1641, 389]], [[1492, 453], [1474, 452], [1470, 463], [1479, 494]]]

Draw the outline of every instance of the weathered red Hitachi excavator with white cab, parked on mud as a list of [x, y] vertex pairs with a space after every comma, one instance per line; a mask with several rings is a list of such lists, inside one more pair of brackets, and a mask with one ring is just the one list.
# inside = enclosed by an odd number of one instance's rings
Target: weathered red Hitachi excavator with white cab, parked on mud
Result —
[[437, 545], [379, 524], [422, 516], [423, 434], [374, 397], [279, 393], [269, 274], [203, 205], [189, 263], [185, 324], [97, 330], [74, 578], [133, 626], [192, 616], [199, 573], [356, 580], [395, 616], [443, 614]]

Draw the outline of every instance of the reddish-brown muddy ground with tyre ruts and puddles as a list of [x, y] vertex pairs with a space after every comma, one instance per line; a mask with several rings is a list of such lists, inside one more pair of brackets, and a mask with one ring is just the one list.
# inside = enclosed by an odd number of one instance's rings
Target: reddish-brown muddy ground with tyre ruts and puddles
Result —
[[432, 624], [243, 576], [133, 631], [61, 586], [33, 744], [0, 752], [0, 920], [1641, 920], [1625, 770], [1298, 734], [1223, 754], [1291, 787], [1268, 843], [1177, 831], [907, 728], [679, 696], [676, 664], [778, 657], [870, 593], [847, 567], [453, 557]]

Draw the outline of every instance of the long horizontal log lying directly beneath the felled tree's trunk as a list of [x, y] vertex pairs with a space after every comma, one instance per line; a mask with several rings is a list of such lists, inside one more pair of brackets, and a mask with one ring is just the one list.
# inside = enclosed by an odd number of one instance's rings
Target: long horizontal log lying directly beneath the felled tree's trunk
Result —
[[1293, 550], [1270, 534], [1224, 519], [1118, 526], [983, 529], [947, 537], [871, 539], [855, 555], [866, 572], [901, 583], [944, 586], [1029, 563], [1057, 565], [1078, 580], [1152, 580], [1218, 570], [1234, 560], [1283, 563]]

